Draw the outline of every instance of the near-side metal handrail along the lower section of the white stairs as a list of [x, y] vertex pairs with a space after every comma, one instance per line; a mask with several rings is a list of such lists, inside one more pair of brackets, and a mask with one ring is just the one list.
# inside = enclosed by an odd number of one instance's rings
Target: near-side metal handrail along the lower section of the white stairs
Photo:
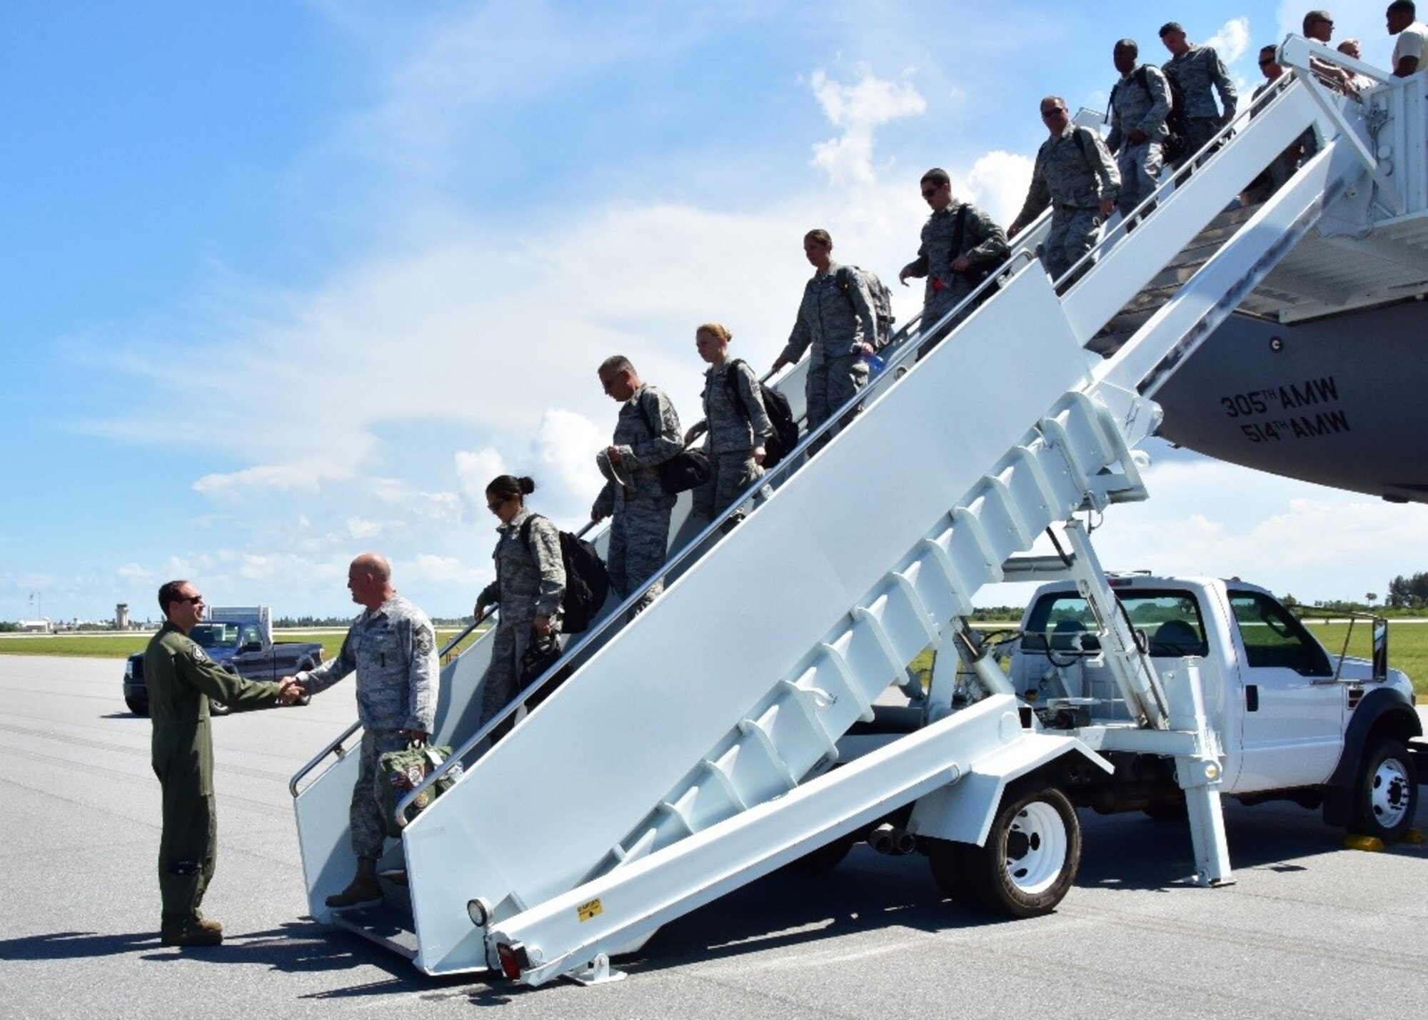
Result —
[[[1037, 217], [1034, 223], [1040, 221], [1042, 217]], [[1028, 224], [1028, 231], [1030, 230], [1031, 226]], [[471, 750], [474, 750], [477, 744], [480, 744], [481, 740], [484, 740], [496, 727], [498, 727], [501, 723], [510, 719], [516, 711], [518, 711], [521, 706], [527, 700], [534, 697], [547, 683], [550, 683], [550, 680], [560, 670], [565, 669], [571, 657], [574, 657], [577, 653], [588, 647], [597, 637], [610, 630], [610, 627], [617, 626], [617, 623], [623, 623], [625, 613], [630, 609], [633, 609], [640, 599], [644, 597], [645, 591], [648, 591], [648, 589], [653, 584], [660, 581], [664, 577], [664, 574], [677, 569], [680, 564], [688, 560], [695, 551], [698, 551], [704, 546], [704, 543], [708, 539], [714, 537], [714, 534], [723, 527], [723, 524], [734, 513], [737, 513], [741, 506], [744, 506], [744, 503], [757, 496], [764, 486], [783, 483], [795, 470], [795, 466], [798, 466], [801, 456], [808, 453], [810, 446], [817, 443], [825, 434], [831, 433], [834, 429], [841, 427], [843, 417], [851, 413], [855, 407], [858, 407], [858, 404], [868, 400], [870, 396], [873, 397], [874, 403], [881, 401], [885, 397], [884, 387], [891, 387], [898, 381], [898, 376], [894, 371], [894, 369], [901, 366], [901, 363], [908, 359], [910, 353], [915, 353], [917, 349], [920, 347], [920, 343], [914, 343], [914, 340], [920, 341], [924, 336], [935, 334], [944, 326], [947, 326], [954, 319], [961, 316], [964, 311], [974, 309], [977, 306], [977, 301], [982, 297], [982, 294], [990, 291], [994, 284], [1000, 284], [1004, 280], [1010, 280], [1012, 276], [1015, 276], [1024, 269], [1017, 266], [1017, 261], [1022, 259], [1027, 260], [1027, 264], [1034, 264], [1037, 261], [1035, 254], [1032, 251], [1030, 251], [1028, 249], [1018, 249], [1008, 257], [1000, 273], [994, 273], [992, 276], [982, 280], [977, 287], [972, 289], [970, 294], [967, 294], [967, 297], [964, 297], [958, 304], [955, 304], [947, 313], [944, 313], [942, 317], [938, 319], [937, 323], [930, 330], [921, 330], [914, 333], [912, 327], [921, 323], [922, 313], [918, 311], [917, 314], [914, 314], [901, 330], [894, 333], [892, 339], [883, 349], [887, 351], [892, 351], [892, 354], [887, 360], [884, 370], [878, 373], [877, 380], [870, 380], [867, 387], [864, 387], [853, 397], [850, 397], [847, 401], [844, 401], [844, 404], [838, 407], [835, 411], [833, 411], [828, 416], [828, 419], [818, 426], [818, 429], [807, 433], [798, 441], [798, 446], [795, 446], [788, 454], [785, 454], [783, 461], [780, 461], [768, 473], [760, 476], [753, 483], [750, 483], [750, 486], [743, 493], [740, 493], [738, 497], [735, 497], [723, 511], [720, 511], [720, 514], [717, 514], [704, 527], [703, 531], [700, 531], [694, 539], [687, 541], [678, 553], [668, 557], [653, 577], [644, 581], [644, 584], [641, 584], [637, 590], [631, 591], [625, 597], [625, 600], [615, 607], [614, 611], [605, 616], [605, 619], [601, 620], [595, 627], [585, 631], [581, 636], [581, 639], [575, 641], [574, 646], [565, 649], [555, 664], [547, 669], [545, 673], [534, 679], [516, 697], [507, 701], [506, 706], [498, 713], [496, 713], [496, 716], [487, 720], [487, 723], [481, 726], [471, 736], [470, 740], [461, 744], [461, 747], [453, 751], [446, 761], [437, 766], [431, 773], [427, 774], [426, 779], [423, 779], [416, 787], [413, 787], [407, 793], [407, 796], [397, 803], [394, 809], [394, 821], [397, 827], [406, 829], [408, 821], [407, 807], [411, 806], [417, 800], [417, 797], [420, 797], [430, 786], [433, 786], [437, 780], [440, 780], [453, 767], [454, 763], [461, 761], [467, 754], [470, 754]], [[874, 394], [874, 391], [877, 393]], [[757, 513], [757, 506], [754, 511]]]

